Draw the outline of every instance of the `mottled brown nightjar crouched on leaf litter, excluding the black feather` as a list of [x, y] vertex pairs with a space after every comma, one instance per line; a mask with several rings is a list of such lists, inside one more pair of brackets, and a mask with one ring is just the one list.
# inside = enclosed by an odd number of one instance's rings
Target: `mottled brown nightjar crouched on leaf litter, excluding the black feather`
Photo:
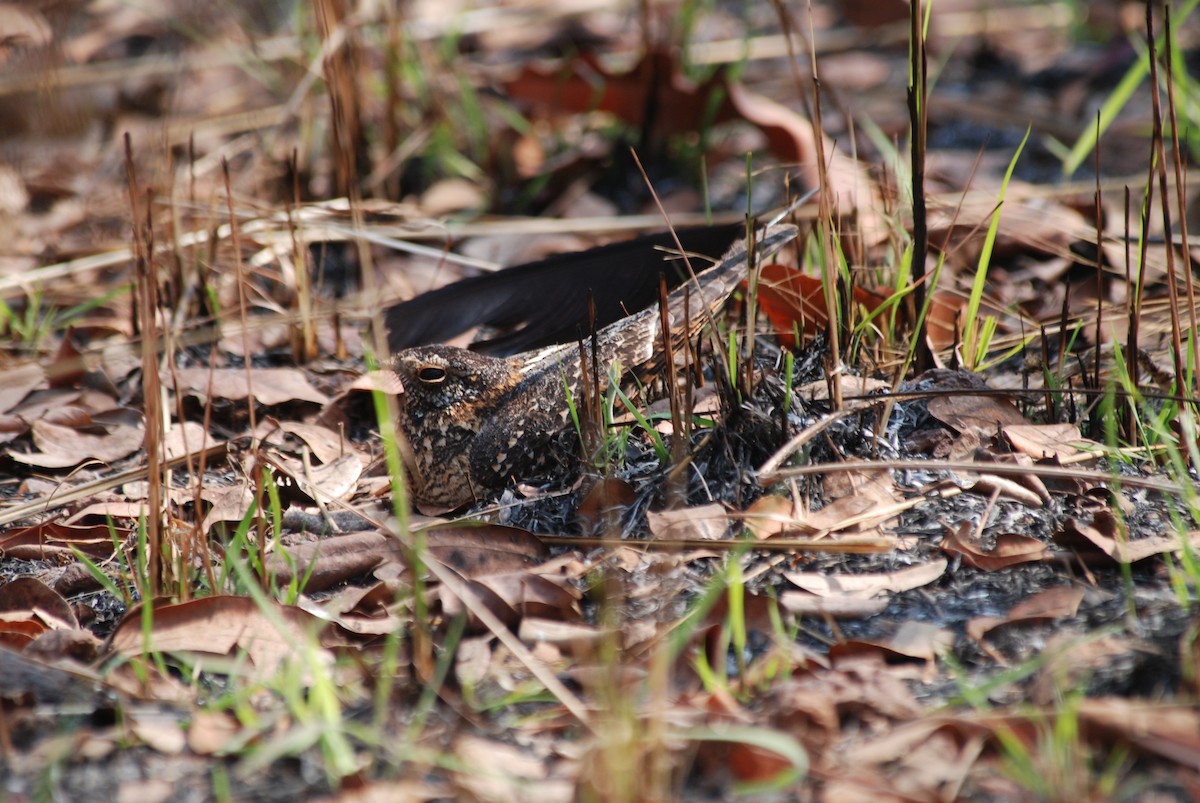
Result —
[[[778, 250], [794, 236], [796, 227], [773, 226], [760, 232], [756, 251]], [[746, 247], [739, 241], [667, 296], [672, 353], [725, 304], [746, 271]], [[618, 364], [626, 376], [643, 380], [668, 353], [658, 304], [605, 326], [594, 342], [601, 371]], [[408, 348], [392, 356], [385, 367], [403, 385], [400, 429], [418, 505], [452, 510], [560, 462], [559, 436], [570, 421], [568, 388], [580, 398], [581, 364], [592, 364], [592, 343], [584, 344], [584, 359], [577, 343], [506, 359], [451, 346]]]

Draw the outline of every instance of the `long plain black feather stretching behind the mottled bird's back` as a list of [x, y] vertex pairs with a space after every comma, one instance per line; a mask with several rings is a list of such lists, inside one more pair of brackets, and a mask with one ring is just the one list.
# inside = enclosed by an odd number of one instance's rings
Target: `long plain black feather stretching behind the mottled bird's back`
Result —
[[[684, 251], [720, 257], [743, 236], [742, 223], [679, 229]], [[494, 326], [503, 334], [472, 346], [496, 356], [575, 342], [588, 331], [588, 294], [596, 308], [596, 328], [654, 304], [659, 276], [667, 286], [684, 274], [665, 260], [661, 248], [676, 250], [670, 232], [560, 253], [446, 284], [397, 304], [384, 313], [388, 346], [398, 352], [446, 341], [473, 326]], [[697, 271], [706, 264], [694, 264]]]

